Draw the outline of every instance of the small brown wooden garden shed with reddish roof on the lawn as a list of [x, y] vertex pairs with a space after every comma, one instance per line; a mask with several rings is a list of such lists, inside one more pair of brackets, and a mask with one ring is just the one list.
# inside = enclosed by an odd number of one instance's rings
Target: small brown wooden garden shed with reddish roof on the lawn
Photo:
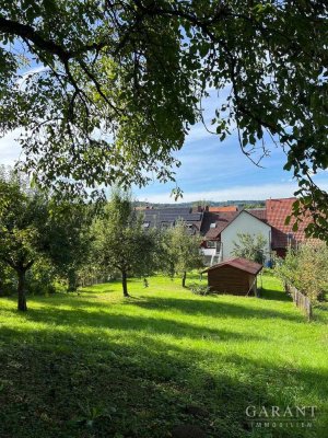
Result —
[[257, 295], [257, 275], [262, 265], [246, 258], [232, 258], [213, 265], [208, 274], [211, 290], [232, 295]]

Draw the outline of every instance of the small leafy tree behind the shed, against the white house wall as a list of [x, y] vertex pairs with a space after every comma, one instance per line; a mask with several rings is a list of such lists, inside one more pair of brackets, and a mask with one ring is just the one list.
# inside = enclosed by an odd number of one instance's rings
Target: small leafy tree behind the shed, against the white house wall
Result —
[[257, 262], [265, 263], [265, 247], [267, 240], [262, 234], [250, 235], [248, 233], [238, 233], [239, 242], [234, 242], [233, 255]]

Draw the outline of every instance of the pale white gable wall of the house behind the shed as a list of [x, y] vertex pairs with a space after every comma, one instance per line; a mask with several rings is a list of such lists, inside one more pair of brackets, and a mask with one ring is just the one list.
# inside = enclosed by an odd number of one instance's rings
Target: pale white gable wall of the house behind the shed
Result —
[[246, 211], [241, 212], [235, 220], [233, 220], [221, 233], [221, 242], [222, 245], [222, 260], [226, 261], [232, 258], [234, 255], [234, 242], [238, 243], [238, 233], [245, 234], [248, 233], [250, 235], [262, 234], [266, 239], [267, 244], [265, 247], [266, 251], [266, 261], [270, 258], [270, 243], [271, 243], [271, 227], [267, 223], [260, 221], [254, 216], [249, 215]]

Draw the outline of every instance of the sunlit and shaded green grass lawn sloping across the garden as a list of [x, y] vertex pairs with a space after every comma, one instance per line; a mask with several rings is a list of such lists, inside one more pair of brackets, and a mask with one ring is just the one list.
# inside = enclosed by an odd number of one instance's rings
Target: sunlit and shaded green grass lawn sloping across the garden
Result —
[[[199, 297], [155, 277], [130, 299], [119, 283], [30, 297], [26, 314], [1, 298], [0, 437], [328, 437], [328, 311], [307, 323], [263, 287]], [[316, 405], [316, 426], [251, 428], [248, 405]]]

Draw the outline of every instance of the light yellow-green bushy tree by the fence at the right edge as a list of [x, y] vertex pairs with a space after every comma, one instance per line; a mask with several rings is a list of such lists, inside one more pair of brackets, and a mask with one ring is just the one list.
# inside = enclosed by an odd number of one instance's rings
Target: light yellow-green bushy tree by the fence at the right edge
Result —
[[321, 244], [302, 244], [289, 249], [284, 260], [277, 258], [276, 272], [282, 281], [295, 286], [313, 303], [328, 291], [328, 249]]

